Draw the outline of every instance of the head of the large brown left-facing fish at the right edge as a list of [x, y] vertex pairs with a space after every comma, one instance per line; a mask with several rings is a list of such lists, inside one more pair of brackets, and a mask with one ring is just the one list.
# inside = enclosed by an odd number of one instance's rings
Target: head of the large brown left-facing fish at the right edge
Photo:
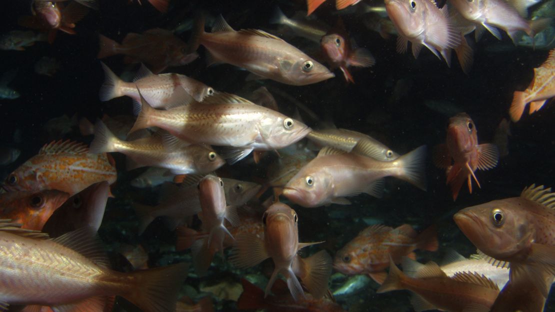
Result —
[[514, 257], [529, 248], [534, 236], [527, 212], [516, 200], [519, 198], [468, 207], [456, 213], [453, 219], [476, 248], [488, 256], [516, 260]]

